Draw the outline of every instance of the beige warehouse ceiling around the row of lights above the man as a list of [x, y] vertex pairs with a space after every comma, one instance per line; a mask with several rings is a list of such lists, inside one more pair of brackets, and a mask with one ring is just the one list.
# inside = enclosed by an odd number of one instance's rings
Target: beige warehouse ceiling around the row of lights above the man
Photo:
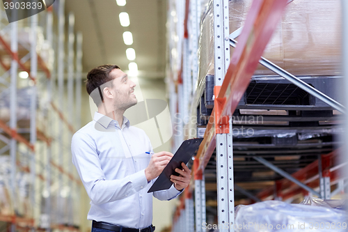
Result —
[[[65, 14], [74, 13], [75, 31], [83, 33], [84, 72], [111, 63], [128, 70], [126, 49], [136, 51], [139, 78], [164, 78], [166, 65], [166, 1], [115, 0], [65, 1]], [[129, 14], [130, 25], [120, 25], [119, 13]], [[125, 45], [124, 31], [131, 31], [133, 44]]]

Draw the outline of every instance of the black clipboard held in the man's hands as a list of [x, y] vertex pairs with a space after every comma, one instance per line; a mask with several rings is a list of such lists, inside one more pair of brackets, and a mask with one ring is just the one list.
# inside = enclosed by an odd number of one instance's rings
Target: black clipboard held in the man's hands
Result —
[[171, 175], [179, 176], [180, 174], [174, 171], [176, 168], [180, 168], [181, 163], [187, 164], [191, 157], [197, 153], [200, 143], [203, 138], [198, 139], [187, 139], [182, 142], [180, 148], [177, 149], [176, 153], [173, 155], [171, 161], [168, 162], [167, 166], [163, 169], [161, 174], [159, 174], [157, 180], [150, 187], [148, 192], [156, 192], [159, 190], [168, 190], [172, 185]]

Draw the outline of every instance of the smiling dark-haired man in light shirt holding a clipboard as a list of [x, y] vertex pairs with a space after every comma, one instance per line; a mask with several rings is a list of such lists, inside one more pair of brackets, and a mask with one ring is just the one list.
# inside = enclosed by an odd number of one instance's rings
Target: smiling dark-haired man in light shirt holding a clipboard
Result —
[[[93, 220], [93, 232], [155, 230], [148, 190], [173, 154], [152, 154], [145, 132], [130, 126], [123, 116], [137, 103], [135, 86], [117, 65], [102, 65], [87, 75], [87, 92], [98, 111], [74, 134], [71, 146], [72, 162], [90, 197], [87, 218]], [[187, 166], [182, 163], [182, 170], [175, 171], [180, 176], [171, 176], [174, 185], [153, 196], [170, 200], [189, 185]]]

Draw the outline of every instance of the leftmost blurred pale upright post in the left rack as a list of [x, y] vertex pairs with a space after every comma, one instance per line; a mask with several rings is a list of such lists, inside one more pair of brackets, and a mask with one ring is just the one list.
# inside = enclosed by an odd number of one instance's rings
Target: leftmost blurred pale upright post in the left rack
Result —
[[[16, 17], [15, 14], [16, 11], [14, 11], [13, 17]], [[14, 21], [11, 23], [11, 51], [17, 56], [18, 51], [18, 37], [17, 37], [17, 22]], [[16, 132], [17, 130], [17, 68], [18, 63], [15, 60], [15, 57], [12, 57], [11, 61], [11, 68], [10, 68], [10, 128], [13, 132]], [[17, 172], [17, 141], [11, 137], [10, 139], [10, 163], [11, 163], [11, 192], [13, 197], [13, 208], [16, 211], [17, 210], [17, 201], [16, 199], [16, 172]], [[13, 223], [11, 224], [11, 231], [16, 231], [16, 225]]]

